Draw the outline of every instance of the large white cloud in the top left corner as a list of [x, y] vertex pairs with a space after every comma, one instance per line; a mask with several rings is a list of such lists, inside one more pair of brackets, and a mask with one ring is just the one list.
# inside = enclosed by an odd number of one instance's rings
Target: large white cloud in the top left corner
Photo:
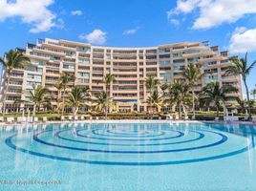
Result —
[[20, 17], [21, 21], [31, 24], [30, 32], [48, 32], [56, 27], [56, 15], [49, 10], [54, 0], [0, 0], [0, 21]]

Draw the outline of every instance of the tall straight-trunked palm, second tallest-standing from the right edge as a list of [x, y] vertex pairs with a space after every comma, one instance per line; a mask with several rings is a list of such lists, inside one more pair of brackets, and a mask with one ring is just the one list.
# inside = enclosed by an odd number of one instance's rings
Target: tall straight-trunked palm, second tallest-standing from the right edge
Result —
[[194, 86], [197, 81], [202, 79], [203, 75], [201, 72], [201, 67], [197, 64], [189, 63], [189, 65], [184, 69], [182, 75], [186, 78], [190, 85], [190, 89], [192, 91], [192, 110], [193, 110], [193, 119], [195, 119], [195, 90]]

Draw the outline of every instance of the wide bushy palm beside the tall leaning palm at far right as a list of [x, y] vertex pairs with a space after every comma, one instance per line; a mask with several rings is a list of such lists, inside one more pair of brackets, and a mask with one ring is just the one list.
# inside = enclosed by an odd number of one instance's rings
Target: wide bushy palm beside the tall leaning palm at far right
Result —
[[237, 88], [233, 86], [220, 86], [219, 82], [211, 82], [203, 87], [201, 99], [204, 104], [209, 107], [213, 105], [217, 110], [217, 117], [219, 117], [221, 104], [230, 98], [237, 98], [235, 96], [228, 96], [232, 92], [237, 92]]

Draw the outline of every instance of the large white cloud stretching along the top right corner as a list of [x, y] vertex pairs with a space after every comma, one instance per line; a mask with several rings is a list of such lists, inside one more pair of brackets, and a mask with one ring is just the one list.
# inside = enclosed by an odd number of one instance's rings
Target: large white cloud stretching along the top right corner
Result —
[[199, 10], [193, 29], [209, 29], [224, 23], [234, 23], [246, 14], [256, 13], [256, 0], [178, 0], [175, 10], [168, 11], [168, 18], [180, 13]]

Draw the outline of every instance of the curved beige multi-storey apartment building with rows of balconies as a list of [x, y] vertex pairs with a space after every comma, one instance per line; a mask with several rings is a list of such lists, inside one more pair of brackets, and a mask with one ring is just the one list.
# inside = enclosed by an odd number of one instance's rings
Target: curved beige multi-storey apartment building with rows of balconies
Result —
[[[219, 48], [210, 47], [208, 42], [182, 42], [147, 48], [99, 47], [67, 40], [38, 39], [29, 43], [26, 49], [18, 49], [31, 58], [32, 66], [26, 70], [15, 69], [11, 74], [7, 91], [7, 110], [20, 111], [32, 109], [30, 104], [15, 104], [16, 99], [29, 99], [26, 91], [32, 85], [47, 87], [55, 96], [58, 95], [54, 85], [61, 73], [75, 74], [68, 91], [74, 85], [89, 86], [92, 96], [106, 90], [102, 83], [105, 74], [115, 74], [116, 82], [111, 84], [110, 96], [117, 103], [120, 112], [145, 112], [148, 93], [144, 86], [146, 77], [154, 76], [161, 83], [182, 79], [182, 70], [188, 63], [201, 63], [202, 72], [210, 72], [194, 87], [200, 92], [202, 87], [219, 81], [222, 85], [238, 88], [242, 96], [241, 79], [238, 76], [225, 76], [224, 71], [230, 65], [228, 53]], [[2, 76], [5, 76], [3, 70]], [[2, 98], [4, 89], [2, 78]], [[231, 100], [230, 100], [231, 101]], [[52, 103], [56, 107], [57, 103]], [[169, 110], [168, 107], [161, 108]]]

